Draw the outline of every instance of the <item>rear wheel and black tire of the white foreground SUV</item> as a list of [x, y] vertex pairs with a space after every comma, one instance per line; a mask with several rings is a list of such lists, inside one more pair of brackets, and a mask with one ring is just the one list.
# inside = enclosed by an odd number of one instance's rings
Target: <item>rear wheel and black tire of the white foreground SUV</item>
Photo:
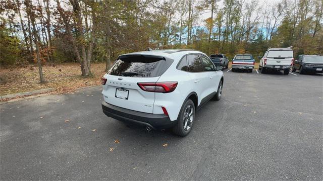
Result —
[[[189, 107], [189, 108], [188, 108]], [[192, 110], [191, 110], [192, 108]], [[192, 111], [192, 115], [188, 116], [187, 110]], [[192, 119], [191, 119], [192, 118]], [[177, 124], [173, 127], [173, 132], [178, 136], [187, 136], [192, 130], [195, 118], [195, 106], [192, 100], [188, 99], [184, 103], [180, 115], [177, 118]], [[191, 120], [191, 121], [190, 121]], [[185, 123], [186, 122], [186, 123]], [[186, 126], [185, 126], [186, 124]]]

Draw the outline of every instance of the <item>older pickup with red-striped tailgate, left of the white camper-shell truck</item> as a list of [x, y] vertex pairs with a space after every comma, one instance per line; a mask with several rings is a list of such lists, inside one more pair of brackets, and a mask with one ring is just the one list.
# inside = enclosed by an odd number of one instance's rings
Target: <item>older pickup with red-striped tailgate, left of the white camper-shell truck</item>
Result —
[[236, 69], [247, 69], [249, 73], [254, 68], [254, 58], [250, 54], [238, 54], [232, 59], [231, 71]]

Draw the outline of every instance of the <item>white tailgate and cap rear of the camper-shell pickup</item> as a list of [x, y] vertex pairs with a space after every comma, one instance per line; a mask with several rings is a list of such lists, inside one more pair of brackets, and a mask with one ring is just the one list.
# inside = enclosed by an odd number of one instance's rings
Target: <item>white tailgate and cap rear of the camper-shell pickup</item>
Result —
[[293, 50], [270, 50], [266, 59], [266, 65], [290, 66], [293, 61]]

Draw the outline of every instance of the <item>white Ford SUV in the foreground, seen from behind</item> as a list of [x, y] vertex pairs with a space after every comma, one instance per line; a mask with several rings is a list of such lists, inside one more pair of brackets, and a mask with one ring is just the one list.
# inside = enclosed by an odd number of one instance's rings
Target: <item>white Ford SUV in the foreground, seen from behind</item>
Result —
[[192, 129], [195, 111], [220, 100], [223, 66], [195, 50], [152, 50], [120, 55], [102, 77], [106, 116], [150, 129]]

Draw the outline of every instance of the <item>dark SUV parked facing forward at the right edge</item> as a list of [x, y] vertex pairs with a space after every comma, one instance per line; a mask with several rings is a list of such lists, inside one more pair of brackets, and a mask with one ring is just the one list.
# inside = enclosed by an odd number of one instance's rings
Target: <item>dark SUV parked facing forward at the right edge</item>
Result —
[[323, 56], [299, 55], [294, 61], [292, 71], [299, 70], [300, 74], [305, 72], [323, 73]]

